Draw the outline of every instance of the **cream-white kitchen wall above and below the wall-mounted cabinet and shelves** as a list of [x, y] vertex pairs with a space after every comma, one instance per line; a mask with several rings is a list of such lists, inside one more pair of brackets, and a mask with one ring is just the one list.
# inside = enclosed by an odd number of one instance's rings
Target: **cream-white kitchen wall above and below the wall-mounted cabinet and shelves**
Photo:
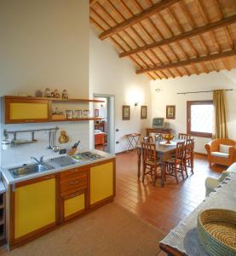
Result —
[[[0, 96], [34, 96], [46, 87], [66, 89], [70, 97], [89, 96], [89, 1], [1, 1], [0, 34]], [[71, 139], [63, 148], [77, 138], [84, 149], [89, 148], [89, 122], [2, 125], [1, 129], [55, 125], [66, 129]], [[1, 152], [2, 166], [48, 154], [47, 137], [40, 133], [38, 143]]]

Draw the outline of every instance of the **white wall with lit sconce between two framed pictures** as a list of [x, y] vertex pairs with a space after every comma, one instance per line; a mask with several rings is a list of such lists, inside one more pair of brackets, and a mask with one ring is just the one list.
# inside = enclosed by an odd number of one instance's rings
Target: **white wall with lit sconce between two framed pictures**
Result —
[[[109, 41], [101, 41], [90, 31], [90, 93], [115, 96], [116, 153], [124, 151], [125, 134], [141, 132], [150, 125], [150, 81], [145, 75], [136, 75], [135, 67], [127, 59], [119, 59]], [[135, 100], [139, 106], [135, 107]], [[122, 120], [122, 105], [130, 105], [130, 120]], [[141, 119], [141, 105], [147, 105], [148, 119]]]

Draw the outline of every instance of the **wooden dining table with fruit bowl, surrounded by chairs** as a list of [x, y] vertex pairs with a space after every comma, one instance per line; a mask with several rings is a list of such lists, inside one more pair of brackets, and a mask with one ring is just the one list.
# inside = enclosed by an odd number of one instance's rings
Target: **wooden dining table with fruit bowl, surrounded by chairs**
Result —
[[[153, 142], [156, 144], [156, 151], [157, 151], [157, 156], [158, 160], [161, 162], [161, 187], [164, 187], [164, 160], [167, 160], [170, 158], [172, 154], [176, 152], [176, 144], [184, 142], [184, 140], [181, 139], [175, 139], [170, 141], [168, 143], [167, 141], [157, 141]], [[137, 145], [137, 154], [138, 154], [138, 172], [137, 176], [140, 179], [141, 177], [141, 156], [142, 156], [142, 150], [141, 150], [141, 145]]]

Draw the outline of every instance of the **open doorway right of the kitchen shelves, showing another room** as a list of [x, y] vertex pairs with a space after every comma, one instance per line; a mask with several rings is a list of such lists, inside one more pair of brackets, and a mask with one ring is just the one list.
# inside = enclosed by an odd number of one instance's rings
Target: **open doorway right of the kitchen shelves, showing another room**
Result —
[[94, 114], [99, 117], [94, 125], [94, 148], [107, 153], [115, 153], [114, 137], [114, 96], [95, 94]]

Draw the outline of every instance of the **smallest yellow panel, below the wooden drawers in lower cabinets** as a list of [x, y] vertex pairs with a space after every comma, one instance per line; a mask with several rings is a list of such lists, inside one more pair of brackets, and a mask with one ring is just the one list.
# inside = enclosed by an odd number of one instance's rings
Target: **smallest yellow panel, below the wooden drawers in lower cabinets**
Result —
[[79, 212], [85, 208], [84, 194], [74, 196], [64, 201], [64, 217]]

